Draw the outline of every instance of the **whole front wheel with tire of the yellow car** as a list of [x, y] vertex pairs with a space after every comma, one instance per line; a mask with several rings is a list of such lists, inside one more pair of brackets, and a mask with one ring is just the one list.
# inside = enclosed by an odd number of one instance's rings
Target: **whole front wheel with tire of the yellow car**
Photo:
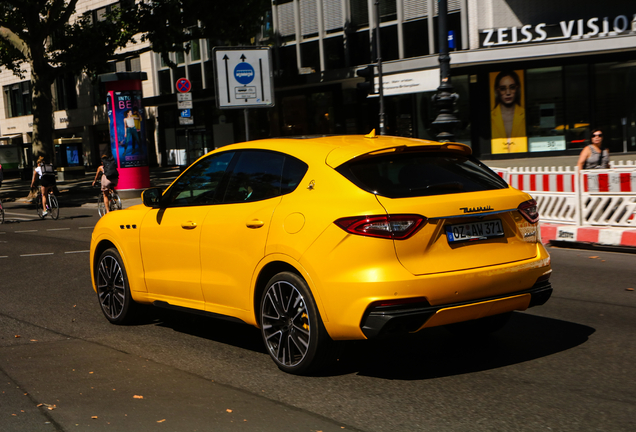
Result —
[[117, 249], [107, 249], [101, 254], [94, 273], [97, 298], [106, 319], [113, 324], [131, 323], [137, 303], [130, 295], [128, 275]]

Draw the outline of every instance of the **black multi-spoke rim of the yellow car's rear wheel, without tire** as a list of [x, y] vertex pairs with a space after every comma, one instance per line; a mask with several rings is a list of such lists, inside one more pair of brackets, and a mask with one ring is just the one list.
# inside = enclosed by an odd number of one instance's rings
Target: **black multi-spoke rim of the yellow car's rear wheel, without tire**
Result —
[[283, 366], [296, 366], [309, 350], [311, 327], [305, 298], [289, 282], [267, 289], [261, 310], [261, 328], [272, 357]]

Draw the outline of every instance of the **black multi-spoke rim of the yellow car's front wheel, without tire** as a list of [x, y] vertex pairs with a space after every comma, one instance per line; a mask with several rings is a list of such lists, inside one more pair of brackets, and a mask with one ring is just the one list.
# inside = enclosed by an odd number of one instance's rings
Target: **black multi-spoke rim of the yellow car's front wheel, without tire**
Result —
[[97, 294], [104, 314], [117, 319], [126, 301], [126, 281], [124, 272], [117, 259], [111, 255], [104, 256], [97, 269]]

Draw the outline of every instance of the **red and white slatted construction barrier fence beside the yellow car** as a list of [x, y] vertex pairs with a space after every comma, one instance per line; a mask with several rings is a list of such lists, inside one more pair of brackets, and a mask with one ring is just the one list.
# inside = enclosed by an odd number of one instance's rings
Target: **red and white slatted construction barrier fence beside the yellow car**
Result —
[[636, 165], [606, 170], [577, 167], [491, 168], [537, 200], [542, 222], [636, 228]]

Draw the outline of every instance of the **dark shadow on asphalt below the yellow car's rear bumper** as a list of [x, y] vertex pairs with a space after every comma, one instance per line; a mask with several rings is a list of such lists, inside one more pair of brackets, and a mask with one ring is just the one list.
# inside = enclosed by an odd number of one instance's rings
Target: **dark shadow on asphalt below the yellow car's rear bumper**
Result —
[[566, 351], [594, 332], [585, 325], [516, 312], [502, 330], [477, 339], [431, 328], [394, 339], [347, 343], [324, 375], [357, 373], [391, 380], [461, 375]]

